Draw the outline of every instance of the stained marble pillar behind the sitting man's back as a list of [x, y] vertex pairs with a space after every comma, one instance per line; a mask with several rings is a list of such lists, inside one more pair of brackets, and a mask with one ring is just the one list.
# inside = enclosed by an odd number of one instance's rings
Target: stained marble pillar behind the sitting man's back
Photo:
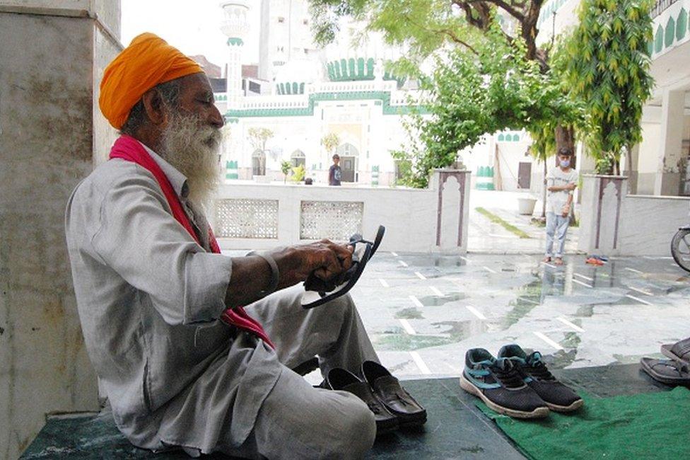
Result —
[[0, 1], [0, 458], [47, 413], [98, 410], [64, 237], [76, 184], [115, 130], [98, 84], [120, 49], [119, 1]]

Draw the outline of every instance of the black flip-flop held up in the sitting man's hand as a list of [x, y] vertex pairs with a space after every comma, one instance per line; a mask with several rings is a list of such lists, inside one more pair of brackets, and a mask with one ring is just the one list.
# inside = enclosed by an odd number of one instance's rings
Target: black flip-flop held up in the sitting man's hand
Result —
[[351, 267], [336, 280], [324, 281], [316, 277], [314, 273], [310, 274], [304, 282], [302, 307], [312, 309], [349, 292], [359, 280], [371, 256], [380, 246], [385, 231], [385, 227], [380, 225], [373, 242], [362, 239], [362, 236], [358, 234], [351, 236], [349, 244], [354, 246]]

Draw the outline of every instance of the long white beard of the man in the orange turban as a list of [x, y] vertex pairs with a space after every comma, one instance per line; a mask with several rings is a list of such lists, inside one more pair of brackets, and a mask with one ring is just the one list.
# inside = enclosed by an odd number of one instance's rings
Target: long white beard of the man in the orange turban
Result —
[[187, 177], [189, 200], [205, 206], [218, 188], [221, 131], [197, 115], [172, 112], [160, 139], [160, 156]]

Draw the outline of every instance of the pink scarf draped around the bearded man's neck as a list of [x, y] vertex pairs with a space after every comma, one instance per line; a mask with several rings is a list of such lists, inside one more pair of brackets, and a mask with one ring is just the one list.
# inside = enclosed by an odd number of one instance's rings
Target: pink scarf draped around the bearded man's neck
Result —
[[[197, 238], [197, 234], [195, 234], [194, 229], [192, 229], [192, 223], [189, 222], [187, 213], [184, 209], [182, 209], [180, 198], [177, 197], [175, 190], [173, 190], [172, 185], [170, 185], [170, 180], [168, 180], [168, 177], [165, 176], [163, 170], [160, 169], [158, 163], [156, 163], [156, 161], [151, 158], [151, 155], [148, 154], [146, 149], [144, 149], [144, 146], [142, 146], [139, 141], [134, 139], [134, 137], [123, 134], [115, 141], [115, 144], [110, 150], [110, 159], [114, 158], [136, 163], [153, 174], [153, 177], [155, 177], [158, 181], [158, 185], [160, 185], [160, 190], [163, 190], [165, 199], [168, 200], [170, 209], [172, 209], [172, 217], [175, 217], [175, 220], [180, 222], [180, 224], [185, 227], [185, 230], [187, 230], [187, 233], [189, 233], [192, 238], [194, 238], [194, 241], [197, 241], [199, 246], [201, 246], [201, 242], [199, 241], [199, 238]], [[221, 253], [221, 248], [218, 246], [218, 241], [216, 241], [216, 236], [214, 236], [214, 232], [211, 230], [210, 226], [209, 245], [211, 246], [211, 252], [216, 254]], [[264, 340], [264, 342], [269, 344], [272, 348], [275, 348], [275, 345], [273, 345], [268, 335], [264, 331], [264, 328], [261, 327], [261, 324], [249, 316], [245, 309], [243, 309], [241, 306], [237, 306], [235, 309], [226, 309], [226, 311], [223, 311], [221, 320], [223, 320], [225, 323], [228, 323], [230, 326], [235, 326], [241, 330], [247, 330], [248, 332], [257, 335], [257, 337], [259, 337], [261, 340]]]

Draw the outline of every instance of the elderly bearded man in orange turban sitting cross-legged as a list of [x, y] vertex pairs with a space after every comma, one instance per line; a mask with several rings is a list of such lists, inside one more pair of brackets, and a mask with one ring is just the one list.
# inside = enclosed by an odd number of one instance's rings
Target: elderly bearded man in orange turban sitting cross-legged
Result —
[[352, 248], [219, 254], [203, 209], [223, 117], [201, 68], [156, 35], [105, 69], [99, 102], [122, 135], [74, 190], [66, 234], [86, 347], [119, 430], [192, 455], [363, 456], [376, 434], [367, 404], [291, 370], [315, 355], [324, 376], [378, 362], [348, 296], [305, 310], [295, 286], [347, 270]]

